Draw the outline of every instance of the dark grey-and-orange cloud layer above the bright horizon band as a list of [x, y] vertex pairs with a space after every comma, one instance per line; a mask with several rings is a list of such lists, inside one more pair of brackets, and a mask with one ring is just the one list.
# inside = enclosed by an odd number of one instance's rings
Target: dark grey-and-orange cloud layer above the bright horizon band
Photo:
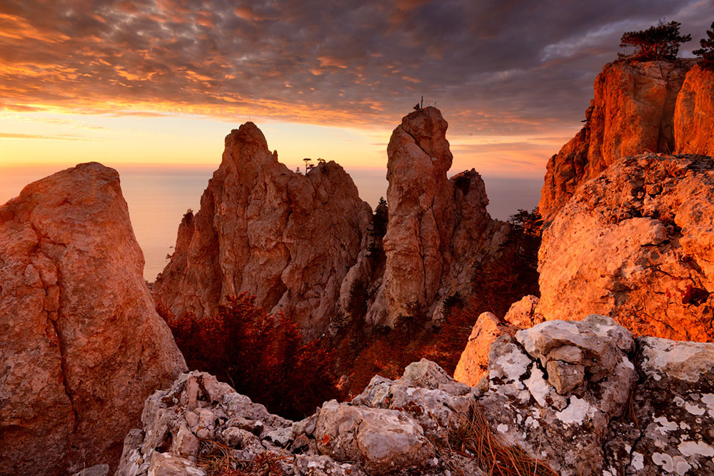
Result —
[[0, 104], [382, 126], [423, 95], [454, 133], [548, 133], [663, 18], [698, 39], [714, 0], [4, 0]]

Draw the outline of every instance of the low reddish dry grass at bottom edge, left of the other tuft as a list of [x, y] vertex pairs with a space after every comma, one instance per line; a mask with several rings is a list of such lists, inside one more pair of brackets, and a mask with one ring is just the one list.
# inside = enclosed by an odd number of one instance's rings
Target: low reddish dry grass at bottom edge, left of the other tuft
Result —
[[231, 448], [211, 440], [201, 440], [196, 464], [207, 476], [283, 476], [282, 462], [288, 457], [262, 452], [253, 460], [238, 460]]

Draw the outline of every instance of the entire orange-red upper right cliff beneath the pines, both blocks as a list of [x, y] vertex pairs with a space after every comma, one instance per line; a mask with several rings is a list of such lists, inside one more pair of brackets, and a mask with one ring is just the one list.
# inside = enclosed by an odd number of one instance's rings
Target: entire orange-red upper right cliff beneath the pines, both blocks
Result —
[[585, 126], [548, 161], [540, 196], [546, 223], [618, 158], [639, 153], [713, 155], [714, 72], [694, 59], [605, 65]]

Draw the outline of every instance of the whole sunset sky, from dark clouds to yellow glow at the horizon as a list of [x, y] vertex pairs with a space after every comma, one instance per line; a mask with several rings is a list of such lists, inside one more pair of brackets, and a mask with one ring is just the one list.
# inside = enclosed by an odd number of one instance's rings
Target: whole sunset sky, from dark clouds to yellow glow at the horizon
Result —
[[200, 169], [198, 203], [223, 138], [253, 121], [283, 163], [337, 161], [373, 203], [423, 96], [451, 173], [476, 168], [492, 204], [527, 189], [508, 206], [530, 208], [620, 36], [659, 19], [690, 56], [714, 0], [0, 0], [0, 186], [85, 161]]

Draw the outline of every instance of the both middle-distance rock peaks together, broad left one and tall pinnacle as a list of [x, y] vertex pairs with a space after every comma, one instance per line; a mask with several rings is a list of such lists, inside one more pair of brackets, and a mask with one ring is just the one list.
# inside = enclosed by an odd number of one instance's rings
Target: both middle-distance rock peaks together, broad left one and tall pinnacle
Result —
[[201, 210], [181, 222], [156, 302], [200, 317], [248, 291], [307, 338], [353, 317], [389, 326], [436, 318], [443, 300], [471, 293], [510, 229], [486, 212], [476, 171], [446, 177], [446, 128], [433, 107], [403, 118], [388, 146], [388, 210], [372, 216], [338, 164], [293, 173], [243, 124], [226, 137]]

